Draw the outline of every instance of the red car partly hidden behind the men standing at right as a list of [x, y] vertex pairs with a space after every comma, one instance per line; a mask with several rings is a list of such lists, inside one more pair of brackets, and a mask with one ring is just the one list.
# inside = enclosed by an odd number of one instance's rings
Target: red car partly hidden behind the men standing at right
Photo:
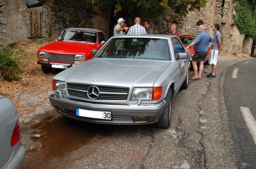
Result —
[[[183, 45], [186, 48], [187, 45], [189, 45], [195, 38], [196, 38], [196, 36], [182, 35], [182, 36], [180, 36], [179, 39], [181, 40], [181, 42], [183, 43]], [[207, 54], [206, 58], [203, 60], [203, 62], [208, 63], [207, 61], [209, 60], [210, 51], [211, 51], [211, 47], [210, 47], [210, 45], [208, 45], [208, 54]], [[192, 56], [195, 54], [194, 46], [189, 47], [189, 54], [190, 54], [190, 61], [192, 61]]]

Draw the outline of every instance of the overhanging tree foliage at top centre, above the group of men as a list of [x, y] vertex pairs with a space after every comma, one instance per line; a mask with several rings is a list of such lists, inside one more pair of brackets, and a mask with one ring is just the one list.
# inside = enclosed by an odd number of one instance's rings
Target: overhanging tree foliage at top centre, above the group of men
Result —
[[84, 4], [99, 5], [101, 9], [110, 9], [111, 6], [120, 5], [122, 10], [138, 15], [153, 16], [160, 14], [164, 9], [174, 10], [185, 15], [188, 11], [200, 10], [207, 0], [78, 0]]

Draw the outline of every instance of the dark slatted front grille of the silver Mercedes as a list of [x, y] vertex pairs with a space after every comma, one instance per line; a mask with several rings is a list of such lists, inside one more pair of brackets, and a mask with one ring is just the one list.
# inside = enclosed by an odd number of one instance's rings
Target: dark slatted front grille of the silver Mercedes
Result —
[[[67, 84], [67, 91], [70, 96], [79, 97], [83, 99], [90, 99], [87, 95], [88, 88], [92, 85], [83, 84]], [[128, 97], [128, 87], [116, 87], [116, 86], [100, 86], [100, 94], [96, 100], [126, 100]]]

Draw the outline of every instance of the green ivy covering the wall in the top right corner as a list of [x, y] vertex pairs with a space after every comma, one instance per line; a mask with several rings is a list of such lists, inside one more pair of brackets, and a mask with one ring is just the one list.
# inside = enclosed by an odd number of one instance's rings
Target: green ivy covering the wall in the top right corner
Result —
[[240, 0], [235, 12], [234, 21], [240, 33], [256, 38], [256, 0]]

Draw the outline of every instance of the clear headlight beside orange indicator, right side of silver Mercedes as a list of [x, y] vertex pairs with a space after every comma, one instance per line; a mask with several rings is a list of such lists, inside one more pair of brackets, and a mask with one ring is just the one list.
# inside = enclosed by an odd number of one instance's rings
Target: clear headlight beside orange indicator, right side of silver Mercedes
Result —
[[131, 100], [139, 98], [152, 98], [153, 87], [135, 87], [132, 91]]

